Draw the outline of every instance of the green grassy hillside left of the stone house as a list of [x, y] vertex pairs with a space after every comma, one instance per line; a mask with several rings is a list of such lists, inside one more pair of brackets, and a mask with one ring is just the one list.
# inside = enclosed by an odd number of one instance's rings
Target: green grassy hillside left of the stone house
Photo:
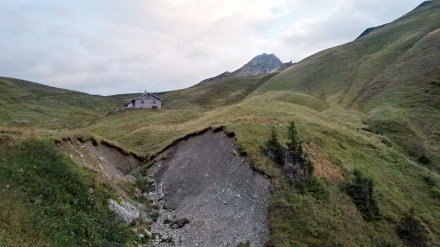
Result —
[[[0, 124], [66, 128], [89, 124], [122, 101], [0, 77]], [[22, 124], [23, 125], [23, 124]]]

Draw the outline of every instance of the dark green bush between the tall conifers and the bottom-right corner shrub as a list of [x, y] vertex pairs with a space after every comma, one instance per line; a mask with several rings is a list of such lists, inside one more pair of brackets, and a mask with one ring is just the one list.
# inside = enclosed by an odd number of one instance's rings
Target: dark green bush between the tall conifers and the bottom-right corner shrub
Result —
[[380, 219], [381, 214], [374, 194], [373, 180], [365, 177], [357, 169], [353, 171], [353, 175], [351, 181], [344, 184], [342, 189], [351, 197], [366, 221]]

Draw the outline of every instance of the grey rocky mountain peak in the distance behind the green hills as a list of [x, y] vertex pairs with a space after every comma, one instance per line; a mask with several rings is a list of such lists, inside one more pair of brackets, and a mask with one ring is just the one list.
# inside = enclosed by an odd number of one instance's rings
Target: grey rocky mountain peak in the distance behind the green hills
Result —
[[292, 62], [283, 63], [274, 54], [263, 53], [261, 55], [252, 58], [241, 68], [233, 72], [229, 72], [229, 71], [223, 72], [220, 75], [201, 81], [198, 85], [207, 84], [227, 77], [254, 76], [254, 75], [263, 75], [263, 74], [280, 72], [287, 69], [291, 65]]

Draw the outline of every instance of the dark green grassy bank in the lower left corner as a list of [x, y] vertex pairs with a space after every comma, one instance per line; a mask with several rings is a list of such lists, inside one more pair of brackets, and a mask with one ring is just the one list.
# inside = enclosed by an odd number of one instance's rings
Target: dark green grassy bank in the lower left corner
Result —
[[[53, 144], [0, 141], [0, 246], [123, 246], [108, 188]], [[99, 175], [98, 175], [99, 176]]]

